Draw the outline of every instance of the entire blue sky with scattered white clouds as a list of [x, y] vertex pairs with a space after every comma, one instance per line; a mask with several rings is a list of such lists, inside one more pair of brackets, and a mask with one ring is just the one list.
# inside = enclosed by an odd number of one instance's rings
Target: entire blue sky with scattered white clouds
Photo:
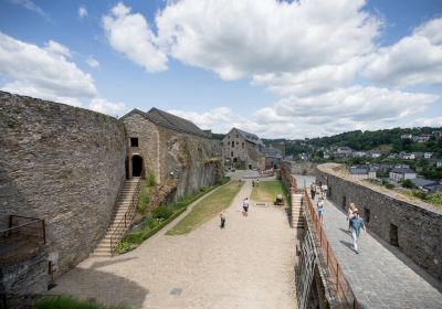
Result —
[[442, 126], [442, 1], [0, 0], [0, 88], [266, 138]]

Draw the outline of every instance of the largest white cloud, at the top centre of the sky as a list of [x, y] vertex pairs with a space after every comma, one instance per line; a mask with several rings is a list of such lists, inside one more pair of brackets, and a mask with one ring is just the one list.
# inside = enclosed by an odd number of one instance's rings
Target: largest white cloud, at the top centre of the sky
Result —
[[158, 44], [223, 79], [341, 65], [373, 50], [362, 0], [182, 0], [157, 14]]

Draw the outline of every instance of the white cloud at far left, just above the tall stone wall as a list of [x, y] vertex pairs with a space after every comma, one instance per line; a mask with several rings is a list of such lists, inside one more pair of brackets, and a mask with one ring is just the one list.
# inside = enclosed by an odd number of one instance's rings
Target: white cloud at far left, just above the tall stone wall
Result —
[[0, 75], [12, 82], [3, 85], [29, 94], [33, 89], [39, 97], [94, 97], [97, 92], [91, 75], [70, 62], [70, 51], [50, 41], [44, 47], [15, 40], [0, 32]]

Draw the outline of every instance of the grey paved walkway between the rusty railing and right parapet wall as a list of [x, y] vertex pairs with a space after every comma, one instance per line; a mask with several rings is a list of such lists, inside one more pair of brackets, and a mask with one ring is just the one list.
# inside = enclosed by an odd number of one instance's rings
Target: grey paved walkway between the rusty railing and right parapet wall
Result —
[[346, 232], [346, 216], [329, 201], [324, 221], [336, 257], [356, 298], [366, 308], [442, 308], [440, 283], [397, 247], [362, 231], [356, 254], [351, 235]]

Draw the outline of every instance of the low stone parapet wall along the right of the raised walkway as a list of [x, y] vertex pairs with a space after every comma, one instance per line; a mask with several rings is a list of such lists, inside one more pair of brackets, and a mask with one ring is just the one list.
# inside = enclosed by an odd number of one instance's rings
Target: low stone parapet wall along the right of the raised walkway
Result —
[[318, 166], [317, 180], [328, 184], [329, 199], [343, 210], [354, 202], [369, 231], [399, 248], [430, 275], [442, 280], [442, 211], [409, 201], [339, 172], [338, 164]]

